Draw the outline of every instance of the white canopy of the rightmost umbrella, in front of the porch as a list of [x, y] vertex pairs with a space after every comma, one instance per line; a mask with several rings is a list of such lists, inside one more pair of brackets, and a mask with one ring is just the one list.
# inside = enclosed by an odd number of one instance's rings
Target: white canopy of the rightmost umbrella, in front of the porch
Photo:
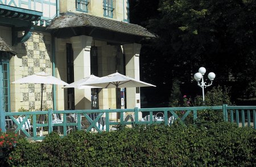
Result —
[[98, 79], [90, 80], [86, 84], [81, 85], [90, 85], [102, 88], [155, 87], [155, 85], [130, 78], [129, 76], [119, 74], [118, 72]]

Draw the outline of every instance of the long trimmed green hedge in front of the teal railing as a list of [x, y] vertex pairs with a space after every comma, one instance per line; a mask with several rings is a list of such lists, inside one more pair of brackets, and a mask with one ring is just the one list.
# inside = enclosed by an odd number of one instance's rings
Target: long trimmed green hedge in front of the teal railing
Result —
[[[10, 166], [256, 166], [256, 131], [231, 123], [76, 131], [41, 143], [18, 141]], [[11, 157], [11, 158], [10, 158]]]

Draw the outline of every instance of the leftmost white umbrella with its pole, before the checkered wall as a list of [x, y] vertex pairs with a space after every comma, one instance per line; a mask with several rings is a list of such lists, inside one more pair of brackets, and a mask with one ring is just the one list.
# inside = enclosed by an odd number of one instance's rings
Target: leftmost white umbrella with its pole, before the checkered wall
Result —
[[64, 81], [47, 74], [46, 72], [42, 71], [34, 75], [29, 75], [24, 78], [18, 79], [15, 82], [12, 83], [35, 83], [35, 84], [41, 84], [41, 110], [43, 107], [43, 84], [55, 84], [55, 85], [68, 85], [68, 83], [65, 83]]

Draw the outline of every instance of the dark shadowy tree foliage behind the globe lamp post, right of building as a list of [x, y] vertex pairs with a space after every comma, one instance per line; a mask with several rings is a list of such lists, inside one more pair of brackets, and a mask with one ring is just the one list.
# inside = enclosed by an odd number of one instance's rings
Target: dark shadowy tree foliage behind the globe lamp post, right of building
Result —
[[147, 22], [158, 38], [141, 52], [142, 66], [160, 75], [156, 85], [170, 87], [177, 77], [191, 85], [204, 66], [216, 73], [216, 85], [232, 86], [233, 99], [255, 96], [256, 1], [160, 0], [158, 11]]

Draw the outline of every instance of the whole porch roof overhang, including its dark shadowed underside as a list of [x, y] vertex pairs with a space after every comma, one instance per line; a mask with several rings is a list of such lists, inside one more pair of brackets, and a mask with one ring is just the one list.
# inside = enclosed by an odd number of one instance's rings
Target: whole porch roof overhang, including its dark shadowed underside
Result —
[[[69, 13], [52, 20], [47, 27], [53, 30], [56, 37], [71, 37], [86, 35], [98, 38], [118, 40], [141, 40], [154, 38], [155, 35], [137, 24], [119, 22], [89, 14]], [[132, 39], [131, 39], [132, 38]]]

